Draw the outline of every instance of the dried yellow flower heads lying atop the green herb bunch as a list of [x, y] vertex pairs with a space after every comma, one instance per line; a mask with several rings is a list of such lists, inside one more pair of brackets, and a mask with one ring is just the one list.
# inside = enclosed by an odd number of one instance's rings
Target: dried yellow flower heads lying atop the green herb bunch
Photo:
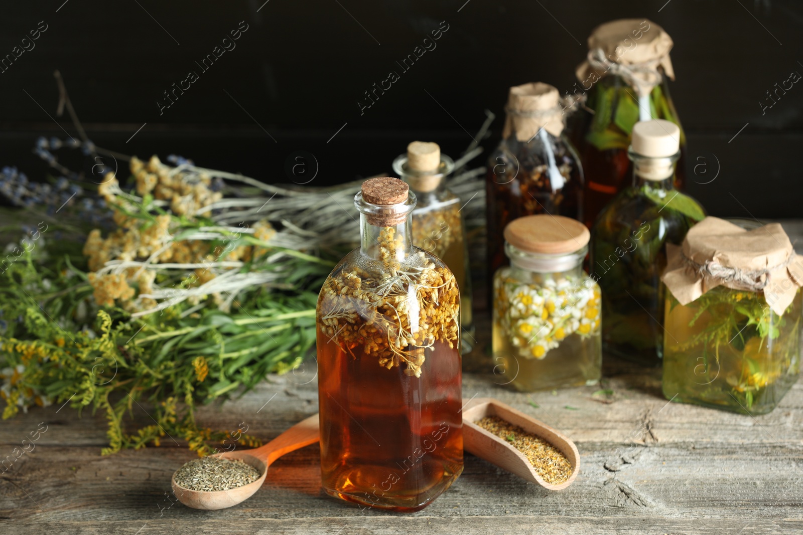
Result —
[[[137, 179], [137, 193], [142, 196], [153, 193], [161, 201], [169, 201], [170, 211], [184, 216], [184, 221], [193, 221], [194, 214], [203, 207], [218, 201], [221, 193], [208, 188], [210, 178], [187, 172], [175, 172], [153, 156], [148, 164], [136, 157], [131, 160], [131, 172]], [[137, 205], [136, 197], [123, 194], [120, 184], [113, 174], [106, 176], [98, 193], [106, 202], [118, 209], [114, 212], [117, 228], [102, 237], [100, 229], [93, 229], [84, 244], [84, 255], [88, 257], [88, 267], [92, 272], [104, 268], [108, 261], [148, 262], [158, 264], [203, 264], [190, 274], [188, 281], [193, 286], [202, 285], [217, 275], [210, 270], [214, 262], [251, 261], [266, 253], [267, 249], [252, 245], [237, 247], [218, 246], [214, 250], [206, 240], [176, 240], [174, 235], [183, 229], [183, 223], [169, 213], [156, 216], [146, 214], [146, 207]], [[136, 213], [140, 217], [127, 215]], [[254, 236], [261, 241], [269, 241], [276, 233], [268, 221], [258, 221], [252, 227]], [[190, 270], [192, 267], [190, 267]], [[190, 271], [190, 273], [192, 273]], [[152, 298], [154, 270], [145, 270], [141, 265], [126, 267], [117, 273], [90, 273], [89, 282], [95, 289], [95, 299], [101, 306], [120, 306], [127, 310], [149, 310], [156, 306]], [[213, 297], [218, 298], [213, 294]]]

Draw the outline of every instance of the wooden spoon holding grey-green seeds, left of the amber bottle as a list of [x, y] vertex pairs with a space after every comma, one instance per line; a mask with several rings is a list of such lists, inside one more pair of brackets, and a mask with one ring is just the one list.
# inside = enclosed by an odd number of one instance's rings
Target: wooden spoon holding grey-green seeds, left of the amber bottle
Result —
[[265, 482], [267, 467], [270, 466], [273, 461], [279, 459], [279, 457], [283, 456], [285, 453], [304, 448], [304, 446], [314, 444], [318, 440], [320, 440], [318, 415], [314, 414], [307, 419], [301, 420], [298, 424], [287, 429], [287, 431], [260, 448], [246, 449], [240, 452], [235, 451], [214, 454], [215, 457], [232, 460], [239, 459], [247, 464], [251, 464], [251, 466], [256, 468], [257, 472], [261, 474], [259, 479], [255, 480], [253, 483], [243, 485], [242, 487], [214, 492], [190, 490], [189, 488], [184, 488], [177, 484], [176, 474], [173, 473], [173, 479], [171, 481], [173, 492], [182, 504], [187, 507], [192, 507], [193, 509], [226, 509], [226, 507], [231, 507], [232, 505], [237, 505], [247, 500], [254, 492], [259, 490], [259, 487]]

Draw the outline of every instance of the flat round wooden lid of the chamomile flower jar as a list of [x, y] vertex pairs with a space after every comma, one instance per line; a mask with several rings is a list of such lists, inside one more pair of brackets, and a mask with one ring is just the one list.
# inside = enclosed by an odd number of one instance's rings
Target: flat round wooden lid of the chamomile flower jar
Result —
[[574, 253], [585, 247], [590, 237], [580, 221], [545, 214], [519, 217], [504, 229], [507, 243], [529, 253]]

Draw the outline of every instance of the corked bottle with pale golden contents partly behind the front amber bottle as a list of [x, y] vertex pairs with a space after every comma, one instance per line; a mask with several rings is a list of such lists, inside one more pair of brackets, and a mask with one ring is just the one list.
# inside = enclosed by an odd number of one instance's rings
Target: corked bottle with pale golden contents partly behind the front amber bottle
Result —
[[441, 153], [437, 143], [413, 141], [407, 153], [393, 160], [393, 171], [415, 193], [412, 218], [413, 245], [440, 258], [454, 274], [460, 290], [460, 351], [474, 347], [471, 311], [471, 273], [468, 262], [466, 225], [460, 213], [460, 197], [446, 188], [454, 162]]

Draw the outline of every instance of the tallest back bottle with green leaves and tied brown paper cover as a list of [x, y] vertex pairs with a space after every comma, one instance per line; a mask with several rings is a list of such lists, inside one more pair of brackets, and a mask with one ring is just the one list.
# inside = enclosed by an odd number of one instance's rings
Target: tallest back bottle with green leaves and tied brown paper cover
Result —
[[589, 36], [589, 53], [577, 67], [574, 99], [585, 111], [572, 121], [572, 140], [585, 169], [585, 224], [622, 188], [630, 185], [627, 148], [638, 121], [663, 119], [679, 127], [680, 163], [675, 188], [683, 186], [686, 136], [667, 79], [675, 79], [672, 39], [661, 26], [642, 18], [606, 22]]

